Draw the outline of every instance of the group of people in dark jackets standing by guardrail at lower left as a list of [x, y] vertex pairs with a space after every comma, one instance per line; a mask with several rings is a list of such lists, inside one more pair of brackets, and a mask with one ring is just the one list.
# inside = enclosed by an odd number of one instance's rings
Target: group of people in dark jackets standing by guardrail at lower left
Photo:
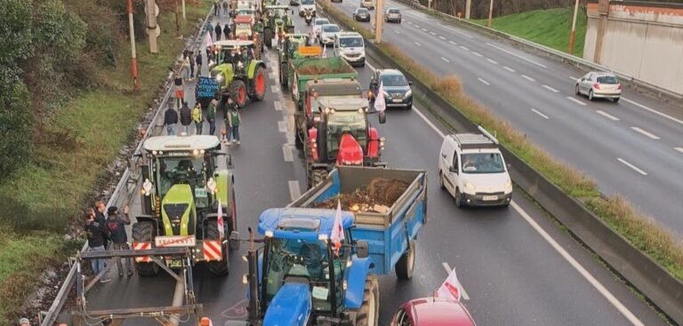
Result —
[[[107, 214], [105, 216], [105, 210]], [[119, 214], [116, 206], [109, 206], [107, 209], [103, 202], [95, 203], [95, 207], [88, 209], [85, 214], [84, 230], [88, 238], [88, 247], [91, 251], [104, 251], [107, 248], [113, 250], [128, 250], [128, 235], [125, 233], [125, 226], [131, 224], [131, 219], [128, 216], [128, 205], [124, 208], [124, 213]], [[133, 259], [117, 258], [118, 276], [123, 277], [124, 272], [127, 271], [128, 276], [134, 274]], [[100, 274], [105, 271], [106, 259], [91, 259], [91, 268], [93, 275]], [[125, 265], [125, 267], [124, 267]], [[108, 272], [105, 272], [100, 277], [100, 282], [106, 283], [111, 281]]]

